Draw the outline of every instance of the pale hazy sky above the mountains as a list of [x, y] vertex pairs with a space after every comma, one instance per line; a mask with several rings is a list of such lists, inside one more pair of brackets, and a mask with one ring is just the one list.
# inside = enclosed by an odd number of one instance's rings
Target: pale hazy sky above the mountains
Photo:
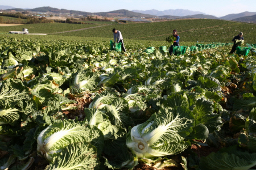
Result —
[[107, 12], [113, 10], [175, 10], [200, 11], [215, 16], [256, 12], [256, 0], [0, 0], [0, 5], [16, 8], [50, 6], [67, 10], [86, 12]]

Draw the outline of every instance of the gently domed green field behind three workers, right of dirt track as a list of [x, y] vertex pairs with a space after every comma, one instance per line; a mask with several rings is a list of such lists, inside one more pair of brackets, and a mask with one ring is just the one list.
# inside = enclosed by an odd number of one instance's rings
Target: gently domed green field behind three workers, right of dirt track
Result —
[[230, 42], [243, 32], [247, 43], [256, 41], [256, 24], [214, 19], [173, 20], [158, 23], [117, 24], [77, 32], [61, 33], [61, 36], [113, 37], [112, 29], [122, 32], [123, 39], [164, 40], [177, 29], [180, 41]]

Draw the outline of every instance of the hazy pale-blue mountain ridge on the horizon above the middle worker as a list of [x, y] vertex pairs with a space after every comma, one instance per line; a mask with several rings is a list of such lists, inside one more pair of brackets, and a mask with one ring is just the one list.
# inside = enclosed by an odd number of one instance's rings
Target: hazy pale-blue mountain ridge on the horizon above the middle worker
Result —
[[163, 15], [171, 15], [171, 16], [187, 16], [187, 15], [196, 15], [196, 14], [204, 14], [200, 11], [190, 11], [190, 10], [183, 10], [183, 9], [177, 9], [177, 10], [164, 10], [164, 11], [158, 11], [158, 10], [133, 10], [133, 12], [139, 12], [142, 14], [150, 14], [150, 15], [156, 15], [156, 16], [163, 16]]

